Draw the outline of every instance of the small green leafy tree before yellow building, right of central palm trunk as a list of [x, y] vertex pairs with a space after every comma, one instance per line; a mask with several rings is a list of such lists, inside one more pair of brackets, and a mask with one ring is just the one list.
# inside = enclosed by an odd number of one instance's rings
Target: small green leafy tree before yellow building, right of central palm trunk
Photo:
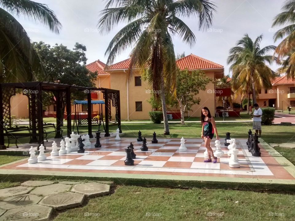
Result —
[[181, 124], [184, 124], [184, 113], [191, 111], [194, 104], [200, 103], [201, 99], [196, 95], [200, 90], [205, 91], [211, 81], [201, 70], [191, 73], [187, 70], [179, 71], [176, 78], [176, 101], [180, 108]]

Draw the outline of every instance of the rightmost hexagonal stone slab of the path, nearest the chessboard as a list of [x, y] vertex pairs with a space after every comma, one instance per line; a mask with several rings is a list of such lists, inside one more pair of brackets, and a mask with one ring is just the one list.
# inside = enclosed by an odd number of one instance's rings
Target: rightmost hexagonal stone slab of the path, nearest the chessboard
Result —
[[95, 182], [76, 184], [71, 192], [85, 194], [88, 197], [103, 196], [110, 193], [110, 185]]

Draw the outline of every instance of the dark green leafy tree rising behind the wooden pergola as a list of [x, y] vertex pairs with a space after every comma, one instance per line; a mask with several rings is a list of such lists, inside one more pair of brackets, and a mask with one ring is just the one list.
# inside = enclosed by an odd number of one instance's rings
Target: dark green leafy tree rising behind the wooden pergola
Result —
[[[86, 47], [79, 43], [75, 44], [73, 50], [68, 49], [64, 45], [55, 44], [51, 47], [44, 42], [33, 42], [33, 47], [37, 51], [47, 75], [45, 77], [37, 75], [39, 81], [49, 81], [54, 83], [64, 83], [70, 85], [78, 85], [84, 87], [95, 86], [94, 81], [97, 73], [89, 72], [85, 64], [87, 58], [85, 56]], [[86, 98], [84, 91], [71, 91], [71, 100], [84, 100]], [[44, 92], [43, 94], [43, 107], [48, 107], [51, 104], [56, 105], [55, 97], [56, 92]], [[62, 107], [60, 110], [61, 119], [63, 122], [63, 113], [65, 112], [66, 102], [63, 99]]]

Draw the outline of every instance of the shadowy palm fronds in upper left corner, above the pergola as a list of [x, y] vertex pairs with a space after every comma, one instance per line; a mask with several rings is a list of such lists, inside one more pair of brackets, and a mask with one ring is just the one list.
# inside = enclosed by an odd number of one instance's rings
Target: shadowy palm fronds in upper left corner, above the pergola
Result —
[[47, 5], [29, 0], [0, 0], [0, 83], [32, 81], [44, 68], [29, 36], [14, 18], [40, 22], [55, 33], [61, 23]]

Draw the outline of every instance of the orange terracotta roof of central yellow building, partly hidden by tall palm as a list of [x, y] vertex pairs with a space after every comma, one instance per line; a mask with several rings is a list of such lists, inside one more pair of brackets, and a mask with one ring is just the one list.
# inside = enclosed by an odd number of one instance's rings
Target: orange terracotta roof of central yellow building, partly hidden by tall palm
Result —
[[[130, 64], [130, 58], [120, 61], [116, 64], [112, 64], [108, 70], [114, 70], [114, 69], [126, 69], [129, 67]], [[206, 60], [204, 58], [201, 58], [199, 56], [190, 54], [188, 56], [185, 56], [183, 58], [180, 58], [176, 60], [176, 64], [179, 67], [180, 70], [188, 69], [188, 70], [194, 70], [194, 69], [210, 69], [210, 68], [223, 68], [222, 65], [214, 63], [213, 61]]]

